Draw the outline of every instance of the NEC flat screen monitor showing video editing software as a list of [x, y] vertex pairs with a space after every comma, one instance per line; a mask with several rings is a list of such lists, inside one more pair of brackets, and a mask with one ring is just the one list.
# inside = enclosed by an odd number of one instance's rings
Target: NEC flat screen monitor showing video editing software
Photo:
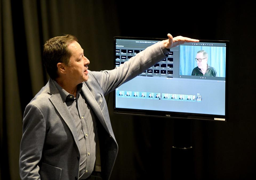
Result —
[[[114, 66], [162, 40], [114, 37]], [[166, 59], [115, 89], [114, 113], [227, 121], [228, 48], [229, 41], [212, 40], [171, 48]]]

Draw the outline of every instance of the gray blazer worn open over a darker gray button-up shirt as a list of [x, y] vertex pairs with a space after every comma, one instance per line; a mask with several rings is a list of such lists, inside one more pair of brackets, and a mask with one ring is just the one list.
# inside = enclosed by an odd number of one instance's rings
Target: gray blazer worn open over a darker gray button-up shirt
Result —
[[[118, 145], [104, 95], [166, 58], [158, 42], [114, 70], [89, 71], [82, 92], [98, 118], [102, 179], [109, 179]], [[77, 179], [80, 149], [77, 130], [61, 95], [50, 79], [26, 106], [20, 149], [21, 179]]]

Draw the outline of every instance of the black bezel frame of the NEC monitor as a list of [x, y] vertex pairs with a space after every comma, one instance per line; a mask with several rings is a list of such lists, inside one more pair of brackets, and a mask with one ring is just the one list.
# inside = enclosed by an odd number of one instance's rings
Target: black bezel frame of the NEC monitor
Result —
[[[114, 68], [115, 66], [115, 47], [116, 39], [134, 39], [134, 40], [155, 40], [162, 41], [166, 38], [148, 38], [148, 37], [114, 37]], [[138, 109], [125, 109], [115, 107], [115, 90], [113, 95], [114, 114], [127, 114], [127, 115], [138, 115], [148, 117], [164, 117], [174, 119], [188, 119], [188, 120], [206, 120], [206, 121], [221, 121], [227, 122], [228, 119], [228, 57], [229, 57], [229, 41], [222, 40], [199, 40], [199, 42], [212, 42], [212, 43], [226, 43], [226, 77], [225, 77], [225, 115], [212, 115], [212, 114], [198, 114], [198, 113], [182, 113], [182, 112], [166, 112], [166, 111], [154, 111], [154, 110], [138, 110]], [[157, 115], [156, 113], [157, 112]]]

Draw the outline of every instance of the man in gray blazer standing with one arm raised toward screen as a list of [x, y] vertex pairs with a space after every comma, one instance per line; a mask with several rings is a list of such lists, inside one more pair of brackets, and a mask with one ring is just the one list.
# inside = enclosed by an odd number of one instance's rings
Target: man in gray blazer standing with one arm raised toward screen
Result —
[[[166, 58], [169, 48], [198, 40], [167, 35], [114, 70], [93, 72], [72, 35], [44, 45], [49, 82], [26, 106], [21, 179], [109, 179], [118, 145], [104, 95]], [[140, 67], [140, 68], [138, 68]]]

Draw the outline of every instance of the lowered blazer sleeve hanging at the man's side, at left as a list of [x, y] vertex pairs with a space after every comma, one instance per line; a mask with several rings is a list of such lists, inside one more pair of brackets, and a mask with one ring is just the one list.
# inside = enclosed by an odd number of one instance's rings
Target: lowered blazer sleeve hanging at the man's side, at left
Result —
[[23, 117], [20, 146], [21, 179], [40, 179], [39, 162], [45, 141], [46, 123], [41, 110], [35, 104], [28, 104]]

